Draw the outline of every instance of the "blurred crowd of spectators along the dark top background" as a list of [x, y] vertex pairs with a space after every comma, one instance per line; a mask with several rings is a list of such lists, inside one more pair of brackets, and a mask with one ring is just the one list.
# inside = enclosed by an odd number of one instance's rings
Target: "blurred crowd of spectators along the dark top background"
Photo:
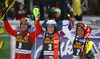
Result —
[[[5, 1], [0, 0], [0, 15], [2, 15], [2, 10], [5, 9]], [[8, 0], [9, 3], [13, 0]], [[40, 20], [47, 21], [48, 19], [55, 20], [68, 20], [69, 17], [74, 17], [77, 21], [82, 21], [82, 16], [99, 16], [100, 15], [100, 0], [56, 0], [55, 5], [45, 2], [45, 0], [23, 0], [24, 4], [16, 0], [15, 5], [10, 8], [7, 12], [8, 20], [19, 20], [22, 17], [30, 17], [34, 20], [32, 16], [32, 10], [35, 5], [40, 7]], [[32, 4], [30, 4], [32, 2]], [[60, 22], [58, 21], [58, 22]]]

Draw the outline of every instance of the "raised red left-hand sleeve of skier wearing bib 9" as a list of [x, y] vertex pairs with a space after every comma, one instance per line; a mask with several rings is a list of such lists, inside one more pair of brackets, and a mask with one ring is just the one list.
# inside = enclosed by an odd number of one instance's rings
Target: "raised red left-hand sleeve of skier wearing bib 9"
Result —
[[11, 26], [10, 26], [8, 20], [4, 20], [4, 27], [5, 27], [6, 31], [7, 31], [10, 35], [12, 35], [12, 36], [14, 36], [14, 37], [16, 36], [16, 33], [17, 33], [18, 31], [13, 30], [13, 29], [11, 28]]

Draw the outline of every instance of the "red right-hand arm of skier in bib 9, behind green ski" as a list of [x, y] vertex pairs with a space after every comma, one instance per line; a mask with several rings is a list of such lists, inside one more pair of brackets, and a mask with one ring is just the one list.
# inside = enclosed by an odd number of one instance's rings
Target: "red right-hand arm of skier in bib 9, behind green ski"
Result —
[[[36, 37], [41, 33], [41, 25], [39, 21], [37, 20], [37, 26], [36, 26]], [[35, 31], [30, 33], [30, 40], [34, 43], [35, 42]]]

